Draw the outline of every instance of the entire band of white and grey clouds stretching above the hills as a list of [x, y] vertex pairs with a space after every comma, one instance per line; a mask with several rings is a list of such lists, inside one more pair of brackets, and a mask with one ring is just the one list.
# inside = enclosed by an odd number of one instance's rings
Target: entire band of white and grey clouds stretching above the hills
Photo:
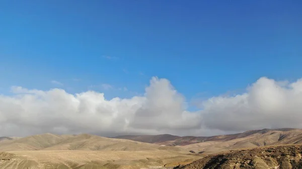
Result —
[[103, 93], [69, 94], [12, 87], [0, 95], [0, 136], [43, 132], [214, 135], [250, 129], [302, 127], [302, 79], [260, 78], [237, 96], [218, 96], [187, 111], [185, 98], [167, 79], [153, 77], [142, 97], [106, 100]]

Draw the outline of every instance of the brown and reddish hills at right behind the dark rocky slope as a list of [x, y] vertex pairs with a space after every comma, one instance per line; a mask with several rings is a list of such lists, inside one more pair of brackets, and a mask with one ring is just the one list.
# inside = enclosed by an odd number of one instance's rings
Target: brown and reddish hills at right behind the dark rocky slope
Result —
[[243, 133], [216, 136], [124, 135], [114, 138], [130, 139], [158, 145], [180, 146], [195, 152], [215, 153], [223, 150], [262, 145], [302, 143], [302, 129], [279, 128], [250, 130]]

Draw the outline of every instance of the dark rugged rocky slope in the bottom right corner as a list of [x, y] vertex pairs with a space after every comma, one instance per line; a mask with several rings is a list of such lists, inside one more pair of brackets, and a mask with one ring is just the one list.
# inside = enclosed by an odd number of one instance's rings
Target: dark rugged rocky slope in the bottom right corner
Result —
[[280, 145], [213, 154], [175, 169], [302, 168], [302, 145]]

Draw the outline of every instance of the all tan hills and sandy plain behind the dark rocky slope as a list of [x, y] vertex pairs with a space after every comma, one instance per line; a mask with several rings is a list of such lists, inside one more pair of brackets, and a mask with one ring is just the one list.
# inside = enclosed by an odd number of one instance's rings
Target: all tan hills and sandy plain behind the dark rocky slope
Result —
[[45, 133], [0, 137], [0, 168], [146, 168], [188, 164], [242, 148], [302, 144], [302, 129], [251, 130], [210, 137], [140, 135], [101, 137]]

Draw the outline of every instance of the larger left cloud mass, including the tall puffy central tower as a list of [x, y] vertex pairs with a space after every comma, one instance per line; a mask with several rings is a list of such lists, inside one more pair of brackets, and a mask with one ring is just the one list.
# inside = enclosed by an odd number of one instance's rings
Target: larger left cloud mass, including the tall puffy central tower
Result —
[[12, 87], [12, 91], [13, 96], [0, 96], [1, 135], [87, 132], [110, 136], [199, 127], [198, 114], [185, 111], [183, 97], [167, 79], [152, 78], [144, 96], [130, 99], [106, 100], [95, 91], [75, 95], [62, 89]]

